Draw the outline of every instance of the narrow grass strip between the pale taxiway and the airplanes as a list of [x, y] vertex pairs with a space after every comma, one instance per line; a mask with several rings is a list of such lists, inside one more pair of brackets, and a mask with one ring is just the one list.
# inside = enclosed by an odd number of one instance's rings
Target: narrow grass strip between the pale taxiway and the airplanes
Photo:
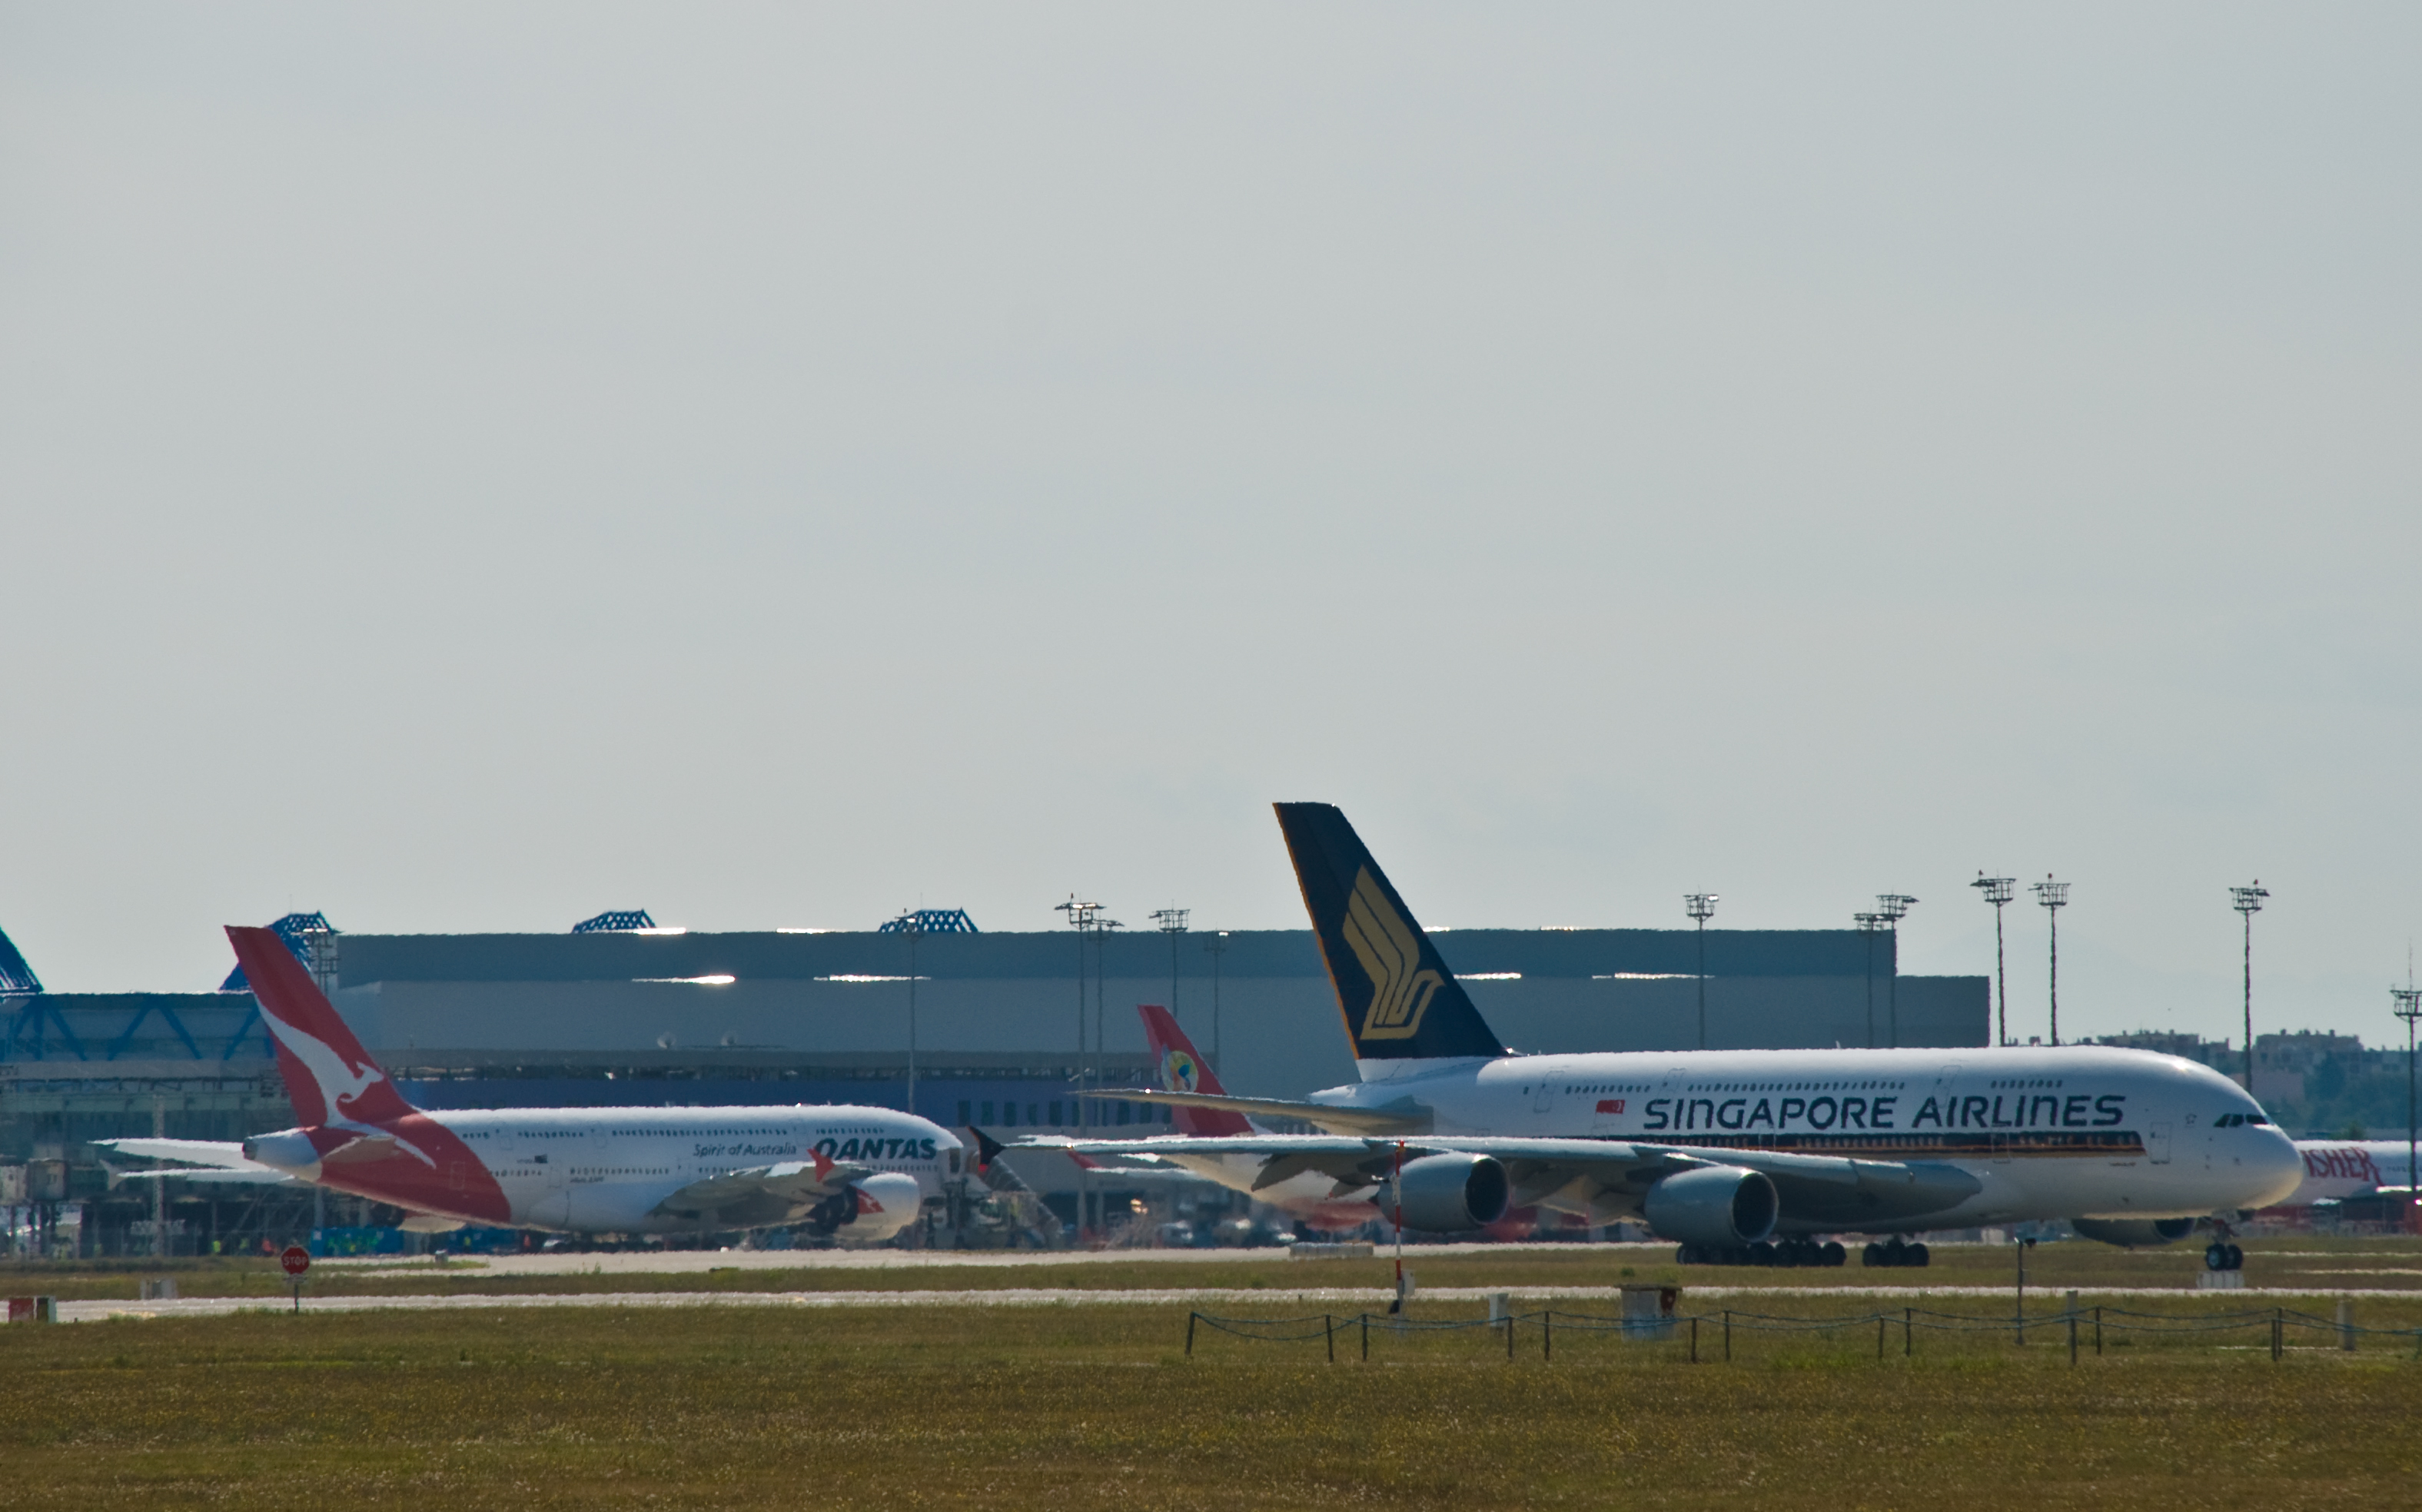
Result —
[[[2027, 1255], [2027, 1284], [2039, 1289], [2134, 1289], [2194, 1284], [2202, 1245], [2165, 1250], [2114, 1250], [2068, 1241], [2037, 1245]], [[1867, 1270], [1853, 1255], [1841, 1270], [1746, 1270], [1674, 1265], [1671, 1245], [1533, 1248], [1490, 1245], [1414, 1262], [1424, 1287], [1611, 1287], [1620, 1282], [1681, 1282], [1688, 1287], [2001, 1287], [2013, 1279], [2010, 1245], [1942, 1245], [1925, 1270]], [[136, 1279], [174, 1275], [186, 1296], [286, 1294], [276, 1260], [172, 1260], [0, 1265], [0, 1292], [51, 1292], [68, 1301], [133, 1299]], [[2388, 1289], [2422, 1292], [2422, 1243], [2412, 1238], [2257, 1238], [2245, 1243], [2250, 1287], [2311, 1292]], [[562, 1292], [959, 1292], [971, 1287], [1385, 1287], [1388, 1258], [1289, 1260], [1279, 1250], [1213, 1250], [1204, 1260], [1136, 1260], [1117, 1255], [1087, 1262], [1034, 1265], [903, 1265], [903, 1267], [780, 1267], [722, 1272], [606, 1272], [606, 1275], [499, 1275], [480, 1260], [395, 1267], [317, 1265], [312, 1296], [368, 1294], [562, 1294]]]

